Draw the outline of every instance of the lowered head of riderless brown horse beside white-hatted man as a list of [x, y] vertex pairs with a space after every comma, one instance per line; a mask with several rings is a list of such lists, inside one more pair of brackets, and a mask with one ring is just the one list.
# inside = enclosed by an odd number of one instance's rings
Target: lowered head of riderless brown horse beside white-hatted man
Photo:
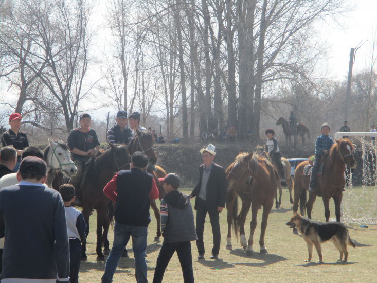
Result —
[[228, 190], [231, 190], [233, 186], [239, 181], [246, 181], [248, 176], [253, 173], [252, 168], [250, 167], [250, 160], [253, 158], [253, 152], [245, 153], [241, 149], [236, 160], [232, 163], [228, 169], [228, 175], [226, 176], [226, 182]]

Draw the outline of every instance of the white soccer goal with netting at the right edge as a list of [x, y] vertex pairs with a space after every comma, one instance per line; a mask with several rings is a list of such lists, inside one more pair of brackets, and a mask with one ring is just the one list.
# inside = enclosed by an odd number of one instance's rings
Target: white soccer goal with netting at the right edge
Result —
[[[353, 154], [359, 161], [356, 169], [346, 170], [346, 191], [343, 192], [341, 222], [377, 225], [377, 145], [371, 138], [377, 136], [377, 133], [335, 134], [336, 139], [343, 136], [348, 136], [352, 141]], [[354, 178], [356, 172], [358, 178]]]

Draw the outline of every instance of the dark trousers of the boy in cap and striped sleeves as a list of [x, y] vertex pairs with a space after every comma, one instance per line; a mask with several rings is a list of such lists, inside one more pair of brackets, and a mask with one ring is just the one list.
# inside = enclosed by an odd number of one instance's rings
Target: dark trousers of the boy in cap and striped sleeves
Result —
[[177, 252], [179, 262], [181, 263], [183, 281], [185, 283], [194, 283], [190, 241], [178, 243], [163, 243], [163, 246], [161, 246], [161, 250], [157, 258], [153, 283], [160, 283], [163, 281], [165, 269], [168, 266], [169, 261], [175, 251]]

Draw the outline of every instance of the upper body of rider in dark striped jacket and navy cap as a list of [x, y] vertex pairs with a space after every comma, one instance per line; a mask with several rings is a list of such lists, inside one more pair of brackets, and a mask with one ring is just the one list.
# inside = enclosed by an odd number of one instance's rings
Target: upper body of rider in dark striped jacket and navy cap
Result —
[[132, 139], [132, 130], [127, 125], [127, 112], [120, 110], [115, 118], [115, 124], [107, 131], [107, 142], [110, 144], [128, 144]]

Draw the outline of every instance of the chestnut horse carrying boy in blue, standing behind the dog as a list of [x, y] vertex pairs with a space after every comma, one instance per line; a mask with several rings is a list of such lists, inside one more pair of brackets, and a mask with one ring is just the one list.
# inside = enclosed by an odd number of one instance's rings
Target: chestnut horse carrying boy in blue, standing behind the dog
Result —
[[[345, 139], [335, 139], [330, 153], [326, 155], [323, 162], [323, 173], [317, 177], [315, 190], [320, 194], [325, 206], [326, 222], [330, 218], [330, 199], [334, 199], [336, 221], [340, 222], [340, 204], [343, 198], [343, 189], [346, 185], [344, 170], [346, 165], [350, 168], [356, 167], [356, 161], [352, 155], [353, 146], [351, 141]], [[293, 211], [296, 212], [300, 204], [300, 214], [304, 215], [305, 206], [307, 208], [308, 218], [312, 218], [313, 203], [317, 198], [316, 194], [309, 193], [307, 202], [307, 190], [309, 190], [310, 176], [302, 174], [303, 169], [309, 161], [301, 162], [294, 176], [294, 202]], [[294, 231], [296, 232], [296, 231]]]

